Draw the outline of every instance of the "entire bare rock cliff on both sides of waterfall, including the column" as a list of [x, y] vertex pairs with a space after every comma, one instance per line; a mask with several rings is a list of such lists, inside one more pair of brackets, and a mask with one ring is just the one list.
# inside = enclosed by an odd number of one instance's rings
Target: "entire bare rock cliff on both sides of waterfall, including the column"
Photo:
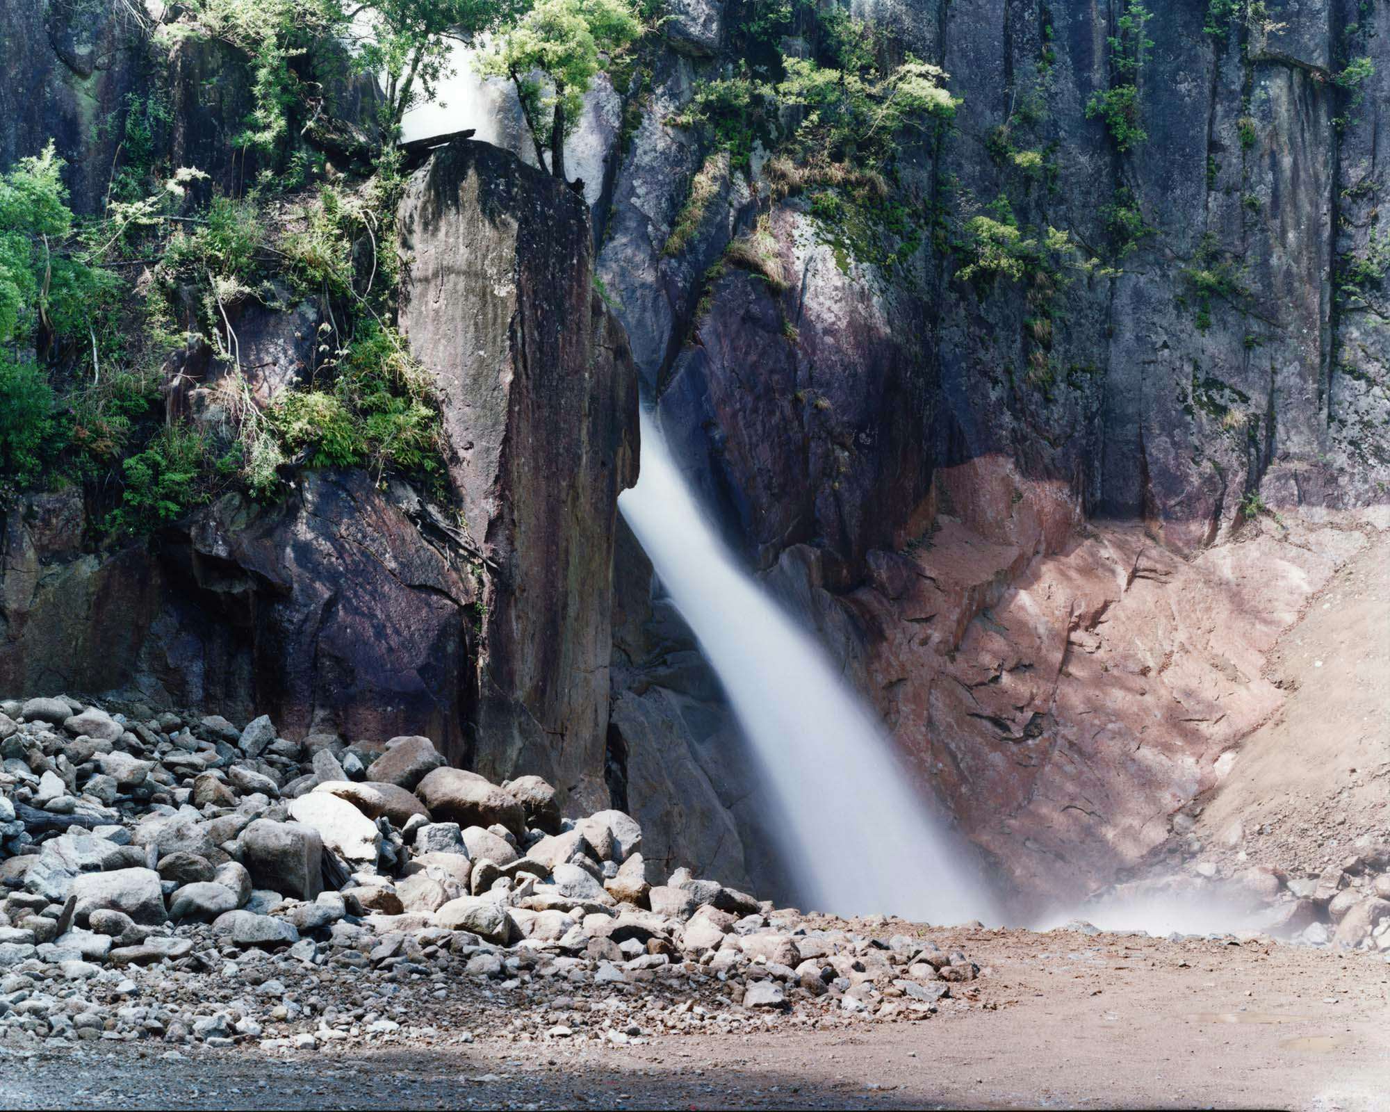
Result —
[[[899, 160], [888, 200], [923, 234], [890, 265], [805, 196], [774, 199], [762, 152], [744, 174], [673, 122], [735, 61], [748, 11], [671, 4], [574, 139], [587, 225], [482, 145], [411, 182], [403, 324], [446, 384], [464, 521], [324, 478], [270, 518], [220, 506], [152, 563], [83, 553], [79, 510], [35, 502], [6, 520], [4, 685], [104, 688], [138, 662], [208, 709], [432, 733], [496, 778], [617, 795], [652, 860], [777, 891], [737, 727], [613, 513], [639, 379], [749, 567], [1005, 883], [1036, 902], [1123, 874], [1238, 766], [1280, 705], [1275, 635], [1390, 525], [1390, 13], [1152, 7], [1147, 138], [1122, 150], [1087, 114], [1115, 79], [1119, 0], [856, 1], [884, 49], [940, 64], [960, 97]], [[0, 163], [56, 135], [96, 208], [114, 146], [92, 113], [147, 88], [149, 54], [118, 17], [75, 13], [0, 10], [44, 90], [0, 82]], [[211, 47], [167, 72], [178, 161], [231, 182], [218, 128], [245, 86]], [[520, 146], [506, 92], [488, 96], [488, 133]], [[696, 172], [710, 200], [669, 250]], [[1001, 197], [1077, 249], [963, 281], [963, 229]], [[759, 217], [763, 274], [727, 263]], [[339, 595], [345, 575], [363, 584]]]

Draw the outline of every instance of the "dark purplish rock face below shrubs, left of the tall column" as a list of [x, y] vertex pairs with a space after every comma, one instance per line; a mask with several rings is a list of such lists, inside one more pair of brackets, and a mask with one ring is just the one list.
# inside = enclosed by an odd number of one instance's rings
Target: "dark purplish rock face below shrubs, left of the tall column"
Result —
[[279, 506], [228, 496], [99, 555], [79, 496], [36, 496], [4, 517], [0, 688], [131, 687], [235, 719], [274, 706], [300, 735], [461, 745], [477, 591], [420, 516], [409, 489], [307, 473]]

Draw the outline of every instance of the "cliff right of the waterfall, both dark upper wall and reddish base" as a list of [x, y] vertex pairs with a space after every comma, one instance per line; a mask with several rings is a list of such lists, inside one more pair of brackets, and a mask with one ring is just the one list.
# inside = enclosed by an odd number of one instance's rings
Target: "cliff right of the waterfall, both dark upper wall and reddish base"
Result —
[[[898, 196], [947, 228], [1004, 196], [1020, 227], [1069, 229], [1106, 261], [977, 286], [949, 235], [887, 272], [756, 175], [724, 174], [667, 256], [706, 154], [670, 121], [723, 64], [709, 29], [739, 15], [688, 7], [599, 217], [599, 274], [664, 428], [942, 809], [1012, 884], [1084, 891], [1230, 766], [1279, 705], [1259, 678], [1272, 631], [1358, 546], [1346, 530], [1384, 524], [1386, 13], [1276, 3], [1280, 26], [1213, 33], [1207, 3], [1163, 6], [1137, 78], [1148, 138], [1122, 153], [1086, 113], [1111, 85], [1119, 4], [856, 4], [963, 99]], [[1359, 57], [1375, 74], [1357, 86]], [[1009, 156], [1024, 147], [1041, 177]], [[759, 210], [785, 289], [727, 267], [703, 288]], [[1122, 217], [1141, 229], [1127, 246]], [[624, 733], [624, 708], [699, 687], [667, 678], [684, 649], [649, 634], [620, 642], [638, 662], [614, 673]], [[684, 784], [727, 730], [717, 699], [701, 706], [660, 716]]]

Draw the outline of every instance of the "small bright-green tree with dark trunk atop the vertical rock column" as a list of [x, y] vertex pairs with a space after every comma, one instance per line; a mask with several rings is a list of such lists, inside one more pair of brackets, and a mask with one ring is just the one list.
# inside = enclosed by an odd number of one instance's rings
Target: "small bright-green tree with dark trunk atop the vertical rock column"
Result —
[[566, 179], [564, 139], [605, 56], [620, 53], [641, 33], [631, 0], [539, 0], [478, 57], [482, 75], [509, 78], [516, 86], [537, 161], [543, 167], [549, 152], [556, 178]]

